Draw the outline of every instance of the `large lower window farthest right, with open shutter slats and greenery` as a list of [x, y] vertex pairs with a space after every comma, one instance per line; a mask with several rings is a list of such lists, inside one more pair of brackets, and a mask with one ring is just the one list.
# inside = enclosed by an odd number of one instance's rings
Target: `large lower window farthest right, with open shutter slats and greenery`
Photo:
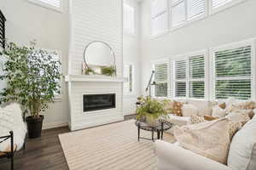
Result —
[[212, 49], [215, 99], [252, 98], [252, 47], [247, 43]]

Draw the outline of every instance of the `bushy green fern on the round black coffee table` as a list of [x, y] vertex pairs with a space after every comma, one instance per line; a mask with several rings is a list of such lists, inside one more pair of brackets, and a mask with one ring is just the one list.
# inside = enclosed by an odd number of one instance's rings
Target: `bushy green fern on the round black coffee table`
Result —
[[168, 108], [169, 100], [152, 99], [150, 97], [140, 97], [140, 105], [137, 107], [137, 119], [145, 120], [149, 125], [154, 126], [159, 122], [159, 117], [166, 118], [170, 112]]

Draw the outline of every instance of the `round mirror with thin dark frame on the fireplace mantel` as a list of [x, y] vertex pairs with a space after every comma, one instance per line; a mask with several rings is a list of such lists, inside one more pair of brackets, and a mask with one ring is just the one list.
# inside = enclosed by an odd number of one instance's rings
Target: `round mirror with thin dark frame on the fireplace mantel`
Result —
[[90, 42], [84, 49], [85, 74], [115, 76], [115, 56], [106, 42]]

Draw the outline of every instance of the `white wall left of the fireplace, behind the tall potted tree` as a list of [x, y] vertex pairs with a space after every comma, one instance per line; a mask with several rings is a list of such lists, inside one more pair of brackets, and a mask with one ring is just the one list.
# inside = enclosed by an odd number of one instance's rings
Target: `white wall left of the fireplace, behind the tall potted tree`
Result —
[[[68, 54], [68, 1], [64, 0], [64, 12], [42, 8], [26, 0], [1, 0], [0, 8], [5, 15], [6, 37], [20, 45], [29, 45], [36, 39], [38, 48], [61, 51], [63, 73], [67, 74]], [[67, 125], [67, 86], [62, 81], [61, 100], [50, 105], [44, 113], [44, 128]]]

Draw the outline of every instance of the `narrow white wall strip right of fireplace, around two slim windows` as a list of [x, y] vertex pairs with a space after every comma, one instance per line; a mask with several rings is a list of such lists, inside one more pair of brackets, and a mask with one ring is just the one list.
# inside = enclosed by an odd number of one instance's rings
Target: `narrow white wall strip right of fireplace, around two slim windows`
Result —
[[140, 54], [140, 3], [137, 0], [125, 0], [125, 3], [135, 8], [135, 35], [124, 32], [123, 38], [123, 56], [124, 64], [131, 64], [134, 66], [134, 94], [124, 95], [124, 114], [135, 114], [137, 96], [141, 94], [141, 54]]

